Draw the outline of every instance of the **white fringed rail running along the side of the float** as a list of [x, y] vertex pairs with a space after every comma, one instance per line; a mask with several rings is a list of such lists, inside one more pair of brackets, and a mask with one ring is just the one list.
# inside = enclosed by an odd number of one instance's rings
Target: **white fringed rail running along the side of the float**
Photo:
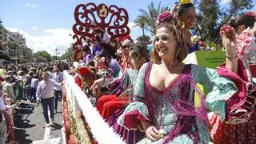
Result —
[[82, 114], [86, 119], [88, 126], [90, 127], [91, 133], [99, 144], [122, 144], [122, 138], [118, 134], [114, 133], [114, 130], [108, 126], [108, 124], [103, 120], [102, 116], [98, 113], [98, 110], [91, 105], [86, 94], [82, 92], [80, 87], [74, 82], [74, 78], [64, 71], [66, 78], [65, 86], [66, 92], [70, 93], [67, 95], [67, 99], [72, 105], [72, 110], [74, 111], [74, 117], [80, 116], [80, 109]]

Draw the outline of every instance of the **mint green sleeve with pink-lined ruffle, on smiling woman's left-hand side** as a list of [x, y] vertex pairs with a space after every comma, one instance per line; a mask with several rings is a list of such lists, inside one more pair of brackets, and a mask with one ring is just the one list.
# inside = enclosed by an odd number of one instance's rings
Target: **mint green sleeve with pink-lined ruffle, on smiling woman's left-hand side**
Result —
[[144, 93], [144, 79], [147, 63], [141, 67], [134, 88], [134, 102], [130, 103], [126, 110], [118, 118], [118, 124], [128, 130], [137, 130], [140, 122], [149, 122], [149, 112], [146, 107]]

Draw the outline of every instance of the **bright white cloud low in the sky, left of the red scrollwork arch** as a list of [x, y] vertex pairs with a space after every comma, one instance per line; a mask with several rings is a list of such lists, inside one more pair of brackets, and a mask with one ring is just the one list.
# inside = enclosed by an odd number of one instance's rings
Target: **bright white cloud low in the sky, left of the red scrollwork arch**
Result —
[[46, 50], [49, 54], [55, 55], [55, 49], [58, 48], [58, 52], [64, 54], [66, 48], [74, 42], [70, 37], [72, 31], [68, 29], [56, 28], [43, 30], [44, 33], [37, 36], [11, 27], [6, 27], [6, 29], [23, 34], [26, 38], [26, 46], [34, 50], [34, 52]]

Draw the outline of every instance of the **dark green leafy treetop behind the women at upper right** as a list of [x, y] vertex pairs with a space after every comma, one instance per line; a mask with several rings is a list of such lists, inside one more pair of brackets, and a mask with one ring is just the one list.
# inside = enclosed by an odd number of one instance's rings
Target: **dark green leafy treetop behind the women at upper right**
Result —
[[253, 7], [252, 0], [231, 0], [226, 7], [220, 7], [219, 0], [194, 1], [198, 5], [196, 30], [208, 42], [220, 42], [219, 29], [230, 18]]

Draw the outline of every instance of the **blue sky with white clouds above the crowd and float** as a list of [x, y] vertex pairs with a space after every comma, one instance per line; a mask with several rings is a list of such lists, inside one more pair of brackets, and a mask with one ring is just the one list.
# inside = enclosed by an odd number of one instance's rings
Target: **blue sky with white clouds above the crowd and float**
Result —
[[[0, 18], [8, 30], [19, 31], [26, 37], [26, 45], [34, 51], [46, 50], [54, 54], [57, 47], [63, 54], [70, 46], [69, 34], [74, 25], [74, 8], [78, 4], [94, 2], [123, 7], [128, 11], [132, 38], [142, 34], [142, 30], [133, 27], [138, 9], [146, 9], [149, 0], [2, 0]], [[152, 0], [157, 6], [160, 0]], [[162, 0], [164, 6], [174, 6], [174, 0]], [[222, 0], [222, 4], [229, 0]], [[256, 0], [254, 0], [256, 3]], [[256, 11], [254, 6], [254, 11]]]

